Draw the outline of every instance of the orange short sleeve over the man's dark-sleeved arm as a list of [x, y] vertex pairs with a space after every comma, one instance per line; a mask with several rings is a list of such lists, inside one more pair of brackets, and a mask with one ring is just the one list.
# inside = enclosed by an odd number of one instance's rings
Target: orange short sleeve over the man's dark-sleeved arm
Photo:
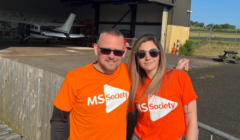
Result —
[[71, 77], [67, 74], [53, 104], [60, 110], [70, 112], [75, 102], [74, 88], [70, 84]]

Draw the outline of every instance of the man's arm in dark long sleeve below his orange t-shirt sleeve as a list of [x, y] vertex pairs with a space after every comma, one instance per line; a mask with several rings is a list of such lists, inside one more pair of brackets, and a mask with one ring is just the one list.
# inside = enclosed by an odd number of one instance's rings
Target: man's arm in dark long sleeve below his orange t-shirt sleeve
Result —
[[53, 115], [50, 120], [51, 140], [65, 140], [69, 136], [69, 113], [54, 106]]

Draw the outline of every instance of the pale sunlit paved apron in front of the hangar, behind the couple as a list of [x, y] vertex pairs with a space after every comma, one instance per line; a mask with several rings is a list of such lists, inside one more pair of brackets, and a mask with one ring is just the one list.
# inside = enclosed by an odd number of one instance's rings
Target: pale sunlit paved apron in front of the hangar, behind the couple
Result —
[[[128, 61], [130, 53], [131, 50], [128, 50], [122, 62], [126, 63]], [[18, 40], [0, 40], [0, 56], [64, 77], [69, 71], [97, 60], [92, 47], [79, 47], [75, 46], [73, 42], [63, 41], [52, 41], [51, 44], [45, 44], [41, 40], [30, 40], [26, 44], [19, 44]], [[212, 61], [212, 59], [166, 54], [167, 68], [176, 66], [181, 58], [190, 59], [190, 67], [220, 63]]]

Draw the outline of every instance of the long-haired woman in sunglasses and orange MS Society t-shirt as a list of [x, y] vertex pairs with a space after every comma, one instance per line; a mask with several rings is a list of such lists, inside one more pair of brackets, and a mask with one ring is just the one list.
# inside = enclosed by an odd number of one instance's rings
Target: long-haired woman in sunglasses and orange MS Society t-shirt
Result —
[[166, 70], [160, 41], [153, 35], [133, 45], [128, 70], [132, 79], [129, 111], [139, 111], [132, 140], [197, 139], [196, 94], [189, 76]]

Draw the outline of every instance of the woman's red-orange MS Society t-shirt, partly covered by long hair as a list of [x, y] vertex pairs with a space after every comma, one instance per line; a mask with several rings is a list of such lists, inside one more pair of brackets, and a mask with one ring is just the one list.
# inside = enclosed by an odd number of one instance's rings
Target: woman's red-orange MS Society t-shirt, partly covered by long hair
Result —
[[[146, 90], [151, 79], [145, 79]], [[143, 140], [178, 140], [185, 134], [183, 106], [197, 98], [187, 73], [170, 70], [164, 74], [162, 86], [157, 95], [146, 97], [141, 102], [139, 86], [135, 105], [139, 111], [135, 133]], [[147, 101], [148, 100], [148, 101]]]

